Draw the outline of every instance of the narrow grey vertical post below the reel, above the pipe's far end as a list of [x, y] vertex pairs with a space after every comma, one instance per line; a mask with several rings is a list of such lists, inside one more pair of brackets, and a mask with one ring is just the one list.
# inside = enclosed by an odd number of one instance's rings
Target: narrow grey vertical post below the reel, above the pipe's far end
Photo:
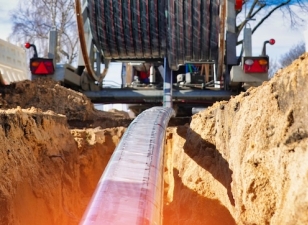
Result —
[[167, 57], [164, 58], [164, 107], [172, 108], [172, 70], [169, 68]]

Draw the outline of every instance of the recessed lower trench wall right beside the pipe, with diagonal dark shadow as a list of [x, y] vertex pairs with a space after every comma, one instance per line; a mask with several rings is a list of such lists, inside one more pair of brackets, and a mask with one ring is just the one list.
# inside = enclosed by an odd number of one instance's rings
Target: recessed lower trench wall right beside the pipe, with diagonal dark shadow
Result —
[[179, 126], [167, 132], [163, 224], [235, 224], [228, 163], [199, 135], [188, 137], [189, 129]]

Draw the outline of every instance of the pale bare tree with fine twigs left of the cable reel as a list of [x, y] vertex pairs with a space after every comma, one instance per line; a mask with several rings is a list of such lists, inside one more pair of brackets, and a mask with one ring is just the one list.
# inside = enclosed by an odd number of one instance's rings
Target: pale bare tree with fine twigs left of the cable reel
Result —
[[77, 57], [78, 35], [74, 0], [19, 0], [12, 11], [13, 31], [10, 39], [31, 42], [38, 46], [39, 55], [47, 56], [48, 33], [58, 31], [58, 47], [67, 55], [57, 61], [71, 63]]

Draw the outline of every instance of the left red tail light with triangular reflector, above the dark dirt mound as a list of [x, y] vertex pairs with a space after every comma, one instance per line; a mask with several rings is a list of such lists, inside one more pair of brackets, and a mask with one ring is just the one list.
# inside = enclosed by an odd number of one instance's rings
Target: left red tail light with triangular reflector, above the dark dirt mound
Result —
[[33, 75], [52, 75], [55, 72], [52, 59], [31, 58], [30, 70]]

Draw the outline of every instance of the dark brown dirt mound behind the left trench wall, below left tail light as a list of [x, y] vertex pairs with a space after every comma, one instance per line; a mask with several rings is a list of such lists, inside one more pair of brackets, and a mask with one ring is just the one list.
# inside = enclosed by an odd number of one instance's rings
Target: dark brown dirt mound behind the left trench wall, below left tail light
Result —
[[13, 83], [1, 89], [0, 109], [20, 106], [54, 111], [67, 117], [71, 127], [118, 127], [131, 122], [124, 113], [96, 110], [82, 93], [67, 89], [51, 79], [35, 79]]

